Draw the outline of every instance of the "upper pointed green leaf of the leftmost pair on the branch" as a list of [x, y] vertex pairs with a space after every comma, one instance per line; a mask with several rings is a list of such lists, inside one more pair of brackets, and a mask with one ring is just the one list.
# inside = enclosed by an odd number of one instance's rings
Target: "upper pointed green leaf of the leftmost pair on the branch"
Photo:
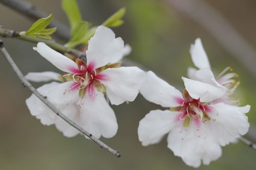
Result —
[[38, 33], [42, 30], [44, 30], [52, 21], [53, 15], [50, 14], [46, 18], [38, 19], [33, 23], [33, 25], [30, 27], [30, 29], [25, 33], [26, 35], [31, 35], [33, 33]]

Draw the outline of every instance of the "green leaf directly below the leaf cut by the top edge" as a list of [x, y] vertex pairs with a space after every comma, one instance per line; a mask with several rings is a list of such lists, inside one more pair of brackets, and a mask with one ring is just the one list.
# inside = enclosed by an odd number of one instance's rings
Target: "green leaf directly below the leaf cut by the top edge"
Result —
[[89, 22], [87, 21], [80, 21], [76, 28], [74, 29], [74, 33], [67, 44], [68, 47], [74, 47], [80, 44], [83, 40], [84, 35], [86, 35], [87, 30], [89, 27]]

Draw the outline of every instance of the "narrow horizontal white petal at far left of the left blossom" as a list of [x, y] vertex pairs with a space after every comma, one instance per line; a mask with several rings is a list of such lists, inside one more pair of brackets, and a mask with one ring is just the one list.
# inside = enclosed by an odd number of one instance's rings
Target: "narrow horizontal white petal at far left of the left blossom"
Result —
[[51, 80], [60, 81], [61, 75], [53, 71], [29, 72], [25, 78], [33, 82], [48, 82]]

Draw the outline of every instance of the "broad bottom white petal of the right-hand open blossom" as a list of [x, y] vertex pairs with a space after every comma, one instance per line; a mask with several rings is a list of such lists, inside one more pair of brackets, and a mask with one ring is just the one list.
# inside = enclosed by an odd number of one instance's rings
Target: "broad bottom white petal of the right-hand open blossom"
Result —
[[168, 148], [179, 156], [189, 166], [199, 167], [201, 160], [204, 164], [216, 160], [221, 156], [221, 147], [201, 125], [199, 131], [194, 123], [190, 123], [187, 128], [176, 126], [168, 135]]

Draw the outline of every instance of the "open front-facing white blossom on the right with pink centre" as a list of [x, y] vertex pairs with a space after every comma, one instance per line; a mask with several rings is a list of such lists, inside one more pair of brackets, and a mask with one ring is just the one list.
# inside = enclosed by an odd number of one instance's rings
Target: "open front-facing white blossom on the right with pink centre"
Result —
[[[168, 134], [167, 147], [174, 155], [181, 157], [187, 165], [198, 167], [201, 160], [203, 164], [209, 164], [218, 159], [222, 152], [221, 146], [244, 135], [249, 128], [245, 113], [250, 110], [250, 106], [202, 102], [201, 97], [212, 100], [213, 92], [218, 91], [218, 84], [213, 79], [211, 81], [212, 86], [203, 87], [200, 85], [202, 82], [198, 83], [197, 88], [207, 92], [201, 95], [198, 93], [200, 90], [194, 87], [193, 94], [196, 97], [193, 98], [188, 90], [181, 93], [148, 71], [140, 93], [148, 101], [169, 107], [170, 110], [153, 110], [140, 121], [138, 135], [142, 145], [158, 143]], [[189, 83], [185, 82], [186, 86], [190, 87]]]

